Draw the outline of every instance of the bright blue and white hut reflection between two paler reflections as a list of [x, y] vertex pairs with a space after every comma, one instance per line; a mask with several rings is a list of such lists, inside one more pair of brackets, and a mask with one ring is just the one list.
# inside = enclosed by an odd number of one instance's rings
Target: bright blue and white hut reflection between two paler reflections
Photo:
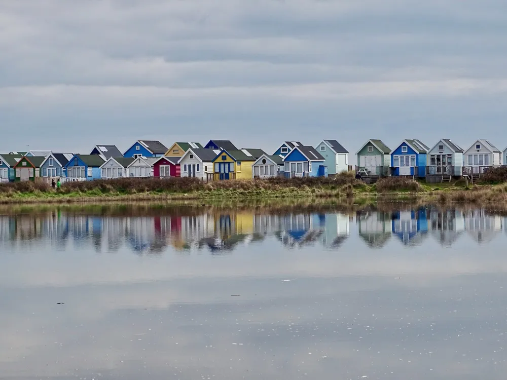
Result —
[[419, 245], [428, 232], [426, 209], [397, 211], [392, 214], [391, 231], [405, 245]]

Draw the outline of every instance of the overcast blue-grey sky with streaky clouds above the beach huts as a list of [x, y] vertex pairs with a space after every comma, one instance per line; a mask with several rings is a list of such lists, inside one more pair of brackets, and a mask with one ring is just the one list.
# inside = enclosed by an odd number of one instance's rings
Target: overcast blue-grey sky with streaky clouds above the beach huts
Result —
[[507, 145], [503, 0], [0, 1], [0, 153]]

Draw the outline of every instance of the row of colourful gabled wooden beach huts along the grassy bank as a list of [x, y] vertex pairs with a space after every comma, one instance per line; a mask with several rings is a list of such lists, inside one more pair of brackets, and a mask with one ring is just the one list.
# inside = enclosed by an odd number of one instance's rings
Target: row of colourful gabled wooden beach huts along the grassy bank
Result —
[[[403, 140], [394, 149], [370, 139], [355, 153], [355, 172], [368, 182], [384, 176], [426, 178], [480, 177], [492, 167], [507, 164], [507, 148], [500, 151], [488, 140], [466, 150], [449, 139], [433, 147], [417, 139]], [[116, 145], [98, 144], [89, 154], [51, 150], [0, 154], [0, 181], [90, 181], [113, 178], [197, 177], [206, 181], [284, 177], [327, 177], [353, 171], [349, 152], [337, 140], [316, 146], [284, 141], [273, 154], [260, 148], [237, 148], [230, 140], [175, 142], [137, 140], [124, 153]]]

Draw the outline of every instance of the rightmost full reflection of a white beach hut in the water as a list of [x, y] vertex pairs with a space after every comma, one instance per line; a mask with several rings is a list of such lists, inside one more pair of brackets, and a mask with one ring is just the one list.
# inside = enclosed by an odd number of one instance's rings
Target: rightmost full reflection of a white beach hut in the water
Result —
[[501, 230], [501, 217], [490, 215], [477, 208], [463, 212], [463, 225], [466, 233], [479, 244], [489, 242]]

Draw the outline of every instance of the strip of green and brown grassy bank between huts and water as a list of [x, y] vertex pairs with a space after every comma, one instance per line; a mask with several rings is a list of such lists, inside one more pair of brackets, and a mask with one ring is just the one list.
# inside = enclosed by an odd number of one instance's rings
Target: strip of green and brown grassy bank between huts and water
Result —
[[[494, 177], [498, 181], [498, 177]], [[507, 172], [506, 172], [507, 178]], [[0, 184], [0, 203], [74, 203], [107, 201], [181, 201], [234, 199], [428, 200], [446, 202], [504, 202], [502, 180], [467, 185], [464, 180], [426, 184], [409, 178], [387, 177], [367, 185], [351, 173], [334, 178], [269, 178], [203, 182], [196, 178], [115, 179], [64, 183], [59, 190], [45, 183]]]

